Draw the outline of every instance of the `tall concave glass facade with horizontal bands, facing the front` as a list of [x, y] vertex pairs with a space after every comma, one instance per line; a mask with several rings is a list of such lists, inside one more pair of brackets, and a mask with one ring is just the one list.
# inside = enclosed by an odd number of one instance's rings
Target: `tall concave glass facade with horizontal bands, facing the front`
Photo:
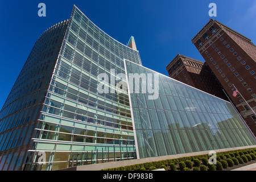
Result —
[[136, 158], [128, 94], [97, 89], [100, 73], [109, 77], [110, 87], [117, 84], [116, 75], [125, 74], [124, 58], [141, 64], [138, 51], [111, 38], [74, 6], [26, 169]]

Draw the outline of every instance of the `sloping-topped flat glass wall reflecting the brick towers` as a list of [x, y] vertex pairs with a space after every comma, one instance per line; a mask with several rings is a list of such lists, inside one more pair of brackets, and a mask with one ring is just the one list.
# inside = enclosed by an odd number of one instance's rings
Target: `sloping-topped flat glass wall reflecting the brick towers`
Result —
[[[230, 102], [130, 61], [126, 70], [139, 158], [256, 144]], [[136, 74], [154, 76], [158, 98], [148, 99], [152, 92], [142, 89], [133, 92], [130, 79]]]

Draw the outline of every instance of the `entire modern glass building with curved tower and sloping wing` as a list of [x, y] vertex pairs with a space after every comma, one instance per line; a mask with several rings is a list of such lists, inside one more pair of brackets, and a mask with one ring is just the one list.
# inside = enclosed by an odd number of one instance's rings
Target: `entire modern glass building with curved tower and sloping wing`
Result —
[[[158, 85], [133, 93], [137, 77]], [[117, 42], [76, 6], [36, 41], [0, 113], [0, 170], [254, 144], [229, 102], [142, 67], [133, 36]]]

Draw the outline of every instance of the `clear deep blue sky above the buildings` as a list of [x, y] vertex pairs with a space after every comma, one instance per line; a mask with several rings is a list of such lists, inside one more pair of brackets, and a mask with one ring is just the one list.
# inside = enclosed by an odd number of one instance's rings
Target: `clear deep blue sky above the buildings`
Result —
[[[38, 16], [41, 2], [46, 4], [46, 17]], [[208, 15], [212, 2], [217, 5], [216, 17]], [[191, 38], [209, 18], [256, 42], [255, 0], [1, 0], [0, 109], [36, 39], [48, 27], [68, 19], [74, 4], [118, 42], [126, 44], [133, 35], [143, 66], [164, 75], [177, 53], [204, 61]]]

